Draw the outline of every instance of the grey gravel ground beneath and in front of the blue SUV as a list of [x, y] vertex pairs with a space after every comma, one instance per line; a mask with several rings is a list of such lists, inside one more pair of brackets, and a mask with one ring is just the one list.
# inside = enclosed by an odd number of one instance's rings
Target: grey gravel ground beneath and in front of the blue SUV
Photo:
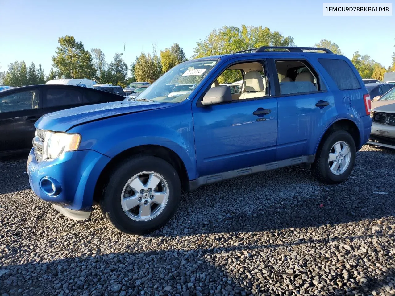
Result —
[[393, 150], [364, 146], [339, 185], [292, 167], [184, 193], [148, 236], [63, 217], [25, 165], [0, 163], [0, 296], [395, 294]]

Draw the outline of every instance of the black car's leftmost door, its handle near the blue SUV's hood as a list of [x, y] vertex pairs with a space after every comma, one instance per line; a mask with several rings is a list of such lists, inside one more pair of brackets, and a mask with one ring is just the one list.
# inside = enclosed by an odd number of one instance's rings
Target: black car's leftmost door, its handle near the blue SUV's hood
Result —
[[0, 154], [32, 147], [42, 115], [41, 87], [0, 92]]

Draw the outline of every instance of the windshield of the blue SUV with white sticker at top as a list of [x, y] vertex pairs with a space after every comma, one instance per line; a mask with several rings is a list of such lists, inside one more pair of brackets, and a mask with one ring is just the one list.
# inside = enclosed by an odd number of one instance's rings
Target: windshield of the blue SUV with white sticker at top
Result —
[[[151, 84], [140, 95], [139, 99], [154, 102], [179, 103], [184, 101], [196, 86], [213, 69], [218, 60], [190, 60], [178, 64], [157, 81]], [[174, 88], [173, 88], [173, 85]], [[178, 89], [180, 88], [180, 89]], [[173, 96], [172, 92], [185, 91], [185, 94]]]

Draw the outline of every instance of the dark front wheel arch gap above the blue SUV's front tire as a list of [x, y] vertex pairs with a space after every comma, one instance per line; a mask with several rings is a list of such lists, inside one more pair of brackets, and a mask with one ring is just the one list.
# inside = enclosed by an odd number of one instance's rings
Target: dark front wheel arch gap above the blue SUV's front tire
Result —
[[115, 155], [115, 157], [113, 157], [109, 163], [107, 163], [100, 173], [98, 180], [96, 181], [93, 197], [94, 202], [99, 202], [102, 199], [103, 189], [111, 171], [114, 170], [115, 167], [117, 167], [117, 165], [119, 165], [119, 163], [121, 163], [124, 159], [127, 159], [133, 155], [151, 155], [164, 159], [177, 171], [181, 181], [182, 189], [189, 191], [188, 172], [184, 162], [177, 153], [167, 147], [160, 145], [140, 145], [120, 152], [119, 154]]

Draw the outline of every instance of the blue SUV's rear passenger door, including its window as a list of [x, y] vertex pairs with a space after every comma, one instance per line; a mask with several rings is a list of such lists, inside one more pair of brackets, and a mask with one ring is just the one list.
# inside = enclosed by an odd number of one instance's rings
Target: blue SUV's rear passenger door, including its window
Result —
[[276, 160], [312, 155], [336, 119], [334, 96], [307, 56], [276, 55], [271, 64], [278, 101]]

